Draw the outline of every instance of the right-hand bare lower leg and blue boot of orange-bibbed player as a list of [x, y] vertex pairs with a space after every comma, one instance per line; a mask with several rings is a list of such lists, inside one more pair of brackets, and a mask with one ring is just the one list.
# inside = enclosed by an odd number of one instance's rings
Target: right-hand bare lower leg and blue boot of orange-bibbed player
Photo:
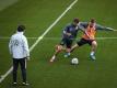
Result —
[[92, 41], [92, 44], [91, 44], [91, 54], [90, 54], [90, 57], [95, 61], [96, 57], [95, 57], [95, 51], [97, 48], [97, 43], [96, 41]]

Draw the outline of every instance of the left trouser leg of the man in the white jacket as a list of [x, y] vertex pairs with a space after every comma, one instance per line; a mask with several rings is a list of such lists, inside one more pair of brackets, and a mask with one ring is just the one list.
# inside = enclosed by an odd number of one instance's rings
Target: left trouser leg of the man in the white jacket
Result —
[[13, 85], [16, 85], [19, 59], [13, 58]]

